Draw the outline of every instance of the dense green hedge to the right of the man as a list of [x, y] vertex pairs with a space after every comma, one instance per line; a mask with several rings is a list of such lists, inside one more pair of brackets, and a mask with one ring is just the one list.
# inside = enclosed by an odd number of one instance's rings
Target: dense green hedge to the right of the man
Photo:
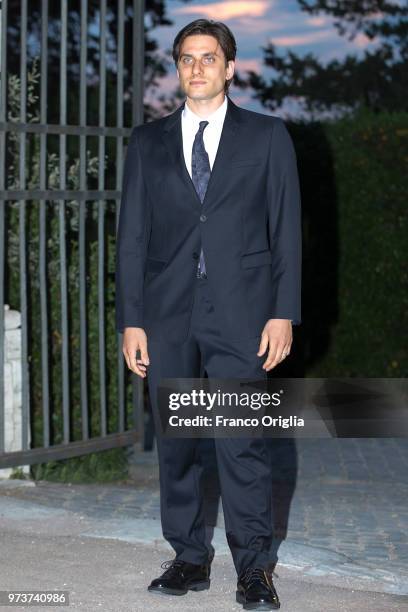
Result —
[[294, 125], [308, 376], [408, 374], [408, 115]]

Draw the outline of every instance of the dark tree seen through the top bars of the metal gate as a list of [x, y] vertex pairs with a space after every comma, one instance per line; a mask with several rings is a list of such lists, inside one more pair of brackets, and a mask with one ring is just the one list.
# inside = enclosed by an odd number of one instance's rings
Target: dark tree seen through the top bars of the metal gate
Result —
[[[183, 0], [189, 2], [190, 0]], [[39, 54], [41, 44], [41, 8], [39, 3], [28, 5], [28, 29], [29, 38], [27, 45], [28, 61], [33, 61]], [[117, 56], [117, 3], [108, 3], [105, 21], [106, 27], [106, 79], [107, 79], [107, 124], [114, 124], [116, 118], [116, 56]], [[7, 70], [10, 74], [20, 72], [20, 45], [21, 45], [21, 2], [20, 0], [9, 0], [8, 24], [7, 24]], [[78, 123], [78, 91], [79, 91], [79, 58], [80, 58], [80, 24], [81, 2], [70, 0], [68, 6], [67, 20], [67, 80], [68, 80], [68, 123]], [[133, 3], [125, 2], [124, 21], [124, 118], [125, 125], [131, 122], [131, 99], [132, 91], [132, 17]], [[88, 122], [92, 125], [98, 124], [98, 85], [99, 85], [99, 18], [100, 7], [98, 3], [88, 4], [87, 14], [87, 85], [88, 85]], [[170, 60], [158, 48], [154, 38], [157, 27], [170, 26], [172, 21], [167, 15], [166, 0], [145, 0], [145, 57], [144, 57], [144, 88], [145, 92], [155, 90], [159, 79], [167, 74]], [[60, 27], [61, 27], [61, 5], [59, 2], [50, 2], [48, 6], [48, 122], [59, 122], [59, 97], [56, 94], [56, 84], [59, 83], [60, 70]], [[159, 108], [153, 108], [145, 104], [145, 119], [151, 119], [161, 110], [168, 110], [175, 104], [173, 94], [162, 95], [158, 98]], [[162, 109], [160, 108], [160, 104]]]

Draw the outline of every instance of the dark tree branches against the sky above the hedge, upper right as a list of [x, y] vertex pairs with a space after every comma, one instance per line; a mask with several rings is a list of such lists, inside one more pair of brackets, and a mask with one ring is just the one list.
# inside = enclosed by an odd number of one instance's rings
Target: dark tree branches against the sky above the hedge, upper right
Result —
[[312, 115], [329, 111], [345, 112], [360, 107], [374, 111], [407, 110], [408, 7], [385, 0], [298, 0], [310, 14], [334, 17], [341, 36], [354, 39], [364, 33], [377, 41], [373, 51], [362, 57], [347, 55], [343, 60], [323, 64], [312, 53], [281, 54], [275, 45], [263, 48], [264, 63], [272, 68], [270, 80], [247, 72], [237, 85], [250, 87], [254, 97], [275, 110], [287, 98], [301, 101]]

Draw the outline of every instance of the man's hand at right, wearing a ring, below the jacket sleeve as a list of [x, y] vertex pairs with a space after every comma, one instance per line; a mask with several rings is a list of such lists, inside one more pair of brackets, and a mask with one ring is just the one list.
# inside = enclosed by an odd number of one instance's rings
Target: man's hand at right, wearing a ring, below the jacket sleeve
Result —
[[269, 372], [290, 353], [292, 346], [292, 323], [289, 319], [269, 319], [262, 331], [258, 357], [265, 354], [269, 345], [268, 357], [262, 368]]

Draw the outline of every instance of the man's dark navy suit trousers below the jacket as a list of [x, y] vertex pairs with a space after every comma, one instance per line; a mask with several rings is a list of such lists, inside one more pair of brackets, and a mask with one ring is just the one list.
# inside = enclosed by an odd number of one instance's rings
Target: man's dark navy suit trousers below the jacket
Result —
[[[162, 378], [266, 378], [257, 357], [259, 338], [233, 343], [223, 337], [207, 281], [197, 279], [188, 339], [181, 345], [148, 338], [148, 382], [157, 432], [163, 535], [176, 557], [208, 559], [199, 439], [160, 435], [157, 386]], [[216, 438], [215, 452], [228, 545], [238, 573], [269, 563], [272, 541], [271, 473], [263, 438]]]

